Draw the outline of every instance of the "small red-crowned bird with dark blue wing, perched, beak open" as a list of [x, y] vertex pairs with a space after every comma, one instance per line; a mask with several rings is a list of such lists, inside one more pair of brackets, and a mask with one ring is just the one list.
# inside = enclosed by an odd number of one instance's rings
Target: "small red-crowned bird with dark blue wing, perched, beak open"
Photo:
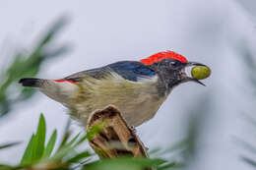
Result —
[[128, 125], [138, 127], [152, 119], [177, 85], [195, 82], [185, 68], [206, 66], [189, 62], [174, 51], [161, 51], [139, 61], [119, 61], [75, 73], [63, 79], [23, 78], [23, 86], [37, 88], [62, 103], [83, 125], [90, 115], [108, 105], [116, 106]]

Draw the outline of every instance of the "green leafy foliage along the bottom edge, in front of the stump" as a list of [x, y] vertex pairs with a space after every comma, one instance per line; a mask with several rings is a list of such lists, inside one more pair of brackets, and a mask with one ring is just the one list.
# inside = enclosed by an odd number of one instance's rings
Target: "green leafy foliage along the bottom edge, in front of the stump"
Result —
[[[37, 131], [35, 134], [32, 134], [20, 163], [16, 166], [0, 164], [0, 170], [142, 170], [150, 167], [154, 167], [157, 170], [166, 170], [181, 167], [180, 163], [157, 157], [119, 157], [115, 159], [96, 160], [96, 155], [89, 150], [79, 152], [76, 150], [80, 144], [90, 140], [90, 138], [96, 133], [99, 133], [100, 130], [101, 127], [96, 126], [84, 136], [78, 134], [74, 138], [71, 138], [69, 128], [66, 128], [64, 138], [61, 140], [59, 146], [57, 146], [57, 130], [54, 130], [48, 142], [45, 142], [46, 123], [43, 115], [40, 115]], [[171, 149], [167, 150], [167, 152], [183, 147], [183, 145], [184, 143], [174, 145]]]

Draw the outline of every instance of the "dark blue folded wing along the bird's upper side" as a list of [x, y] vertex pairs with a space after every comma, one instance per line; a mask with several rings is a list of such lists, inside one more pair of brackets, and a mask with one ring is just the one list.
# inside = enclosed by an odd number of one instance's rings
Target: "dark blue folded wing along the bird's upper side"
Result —
[[91, 76], [96, 79], [101, 79], [104, 78], [106, 73], [111, 71], [115, 72], [123, 79], [134, 82], [138, 81], [139, 78], [154, 77], [156, 75], [156, 73], [149, 66], [146, 66], [143, 63], [136, 61], [121, 61], [101, 68], [79, 72], [64, 78], [64, 80], [72, 80], [76, 82], [84, 76]]

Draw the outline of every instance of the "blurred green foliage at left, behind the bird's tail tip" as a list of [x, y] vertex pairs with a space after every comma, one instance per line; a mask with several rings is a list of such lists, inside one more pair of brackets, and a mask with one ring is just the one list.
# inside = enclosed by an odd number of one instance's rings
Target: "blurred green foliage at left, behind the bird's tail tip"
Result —
[[36, 76], [43, 62], [67, 52], [67, 45], [49, 48], [57, 32], [64, 27], [66, 22], [66, 18], [57, 20], [30, 53], [18, 52], [8, 69], [0, 73], [0, 117], [6, 115], [14, 104], [30, 98], [34, 93], [32, 88], [17, 85], [21, 78]]

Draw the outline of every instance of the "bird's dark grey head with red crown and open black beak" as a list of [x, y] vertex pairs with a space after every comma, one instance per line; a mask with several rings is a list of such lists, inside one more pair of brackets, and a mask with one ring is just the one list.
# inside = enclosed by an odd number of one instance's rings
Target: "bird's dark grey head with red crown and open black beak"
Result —
[[150, 66], [159, 75], [160, 81], [167, 85], [168, 88], [186, 82], [195, 82], [204, 85], [197, 79], [188, 76], [185, 69], [189, 66], [205, 65], [197, 62], [189, 62], [185, 57], [173, 51], [160, 52], [142, 59], [140, 62]]

